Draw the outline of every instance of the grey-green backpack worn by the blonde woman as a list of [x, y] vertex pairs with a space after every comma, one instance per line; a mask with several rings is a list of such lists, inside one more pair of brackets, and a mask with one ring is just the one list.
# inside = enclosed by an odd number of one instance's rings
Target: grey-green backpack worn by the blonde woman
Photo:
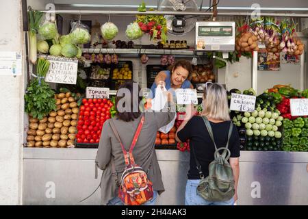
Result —
[[[209, 124], [209, 120], [207, 120], [206, 117], [203, 117], [203, 120], [205, 122], [205, 126], [207, 127], [207, 131], [209, 132], [209, 136], [214, 142], [216, 151], [214, 153], [214, 161], [209, 164], [209, 176], [204, 178], [201, 165], [196, 159], [194, 147], [192, 147], [192, 153], [194, 154], [197, 165], [196, 168], [201, 177], [201, 181], [197, 187], [197, 194], [206, 201], [229, 201], [235, 194], [233, 171], [228, 162], [231, 155], [228, 146], [233, 124], [230, 122], [227, 145], [218, 149], [214, 141], [213, 131], [211, 129], [211, 125]], [[221, 155], [219, 153], [220, 151], [223, 151]]]

